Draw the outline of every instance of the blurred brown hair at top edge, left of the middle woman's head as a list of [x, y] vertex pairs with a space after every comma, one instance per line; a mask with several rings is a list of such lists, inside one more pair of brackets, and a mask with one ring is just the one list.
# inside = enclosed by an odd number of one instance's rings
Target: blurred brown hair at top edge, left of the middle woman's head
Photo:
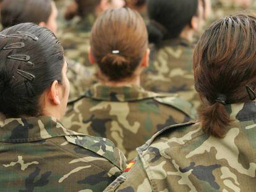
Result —
[[71, 20], [75, 16], [86, 17], [90, 13], [94, 14], [95, 9], [100, 2], [101, 0], [74, 0], [69, 6], [67, 6], [65, 19]]

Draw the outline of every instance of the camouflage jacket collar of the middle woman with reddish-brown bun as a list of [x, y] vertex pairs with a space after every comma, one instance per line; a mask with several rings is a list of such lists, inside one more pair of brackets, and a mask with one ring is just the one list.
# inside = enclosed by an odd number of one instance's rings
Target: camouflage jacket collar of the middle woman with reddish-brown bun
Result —
[[158, 93], [145, 91], [141, 86], [127, 85], [111, 87], [96, 83], [85, 93], [85, 96], [103, 101], [127, 102], [156, 98], [161, 95]]

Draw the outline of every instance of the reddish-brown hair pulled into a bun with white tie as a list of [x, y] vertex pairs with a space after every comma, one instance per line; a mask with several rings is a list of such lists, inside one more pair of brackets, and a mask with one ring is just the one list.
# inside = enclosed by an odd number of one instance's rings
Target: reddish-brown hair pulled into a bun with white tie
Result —
[[124, 80], [132, 77], [147, 51], [147, 29], [135, 10], [110, 9], [93, 25], [90, 44], [103, 75], [110, 81]]

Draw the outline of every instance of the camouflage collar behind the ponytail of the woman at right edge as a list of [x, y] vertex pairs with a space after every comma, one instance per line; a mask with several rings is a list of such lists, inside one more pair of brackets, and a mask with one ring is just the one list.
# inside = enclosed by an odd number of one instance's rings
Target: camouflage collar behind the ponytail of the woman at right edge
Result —
[[254, 120], [256, 122], [256, 102], [249, 101], [240, 104], [230, 104], [226, 106], [231, 119], [239, 122]]

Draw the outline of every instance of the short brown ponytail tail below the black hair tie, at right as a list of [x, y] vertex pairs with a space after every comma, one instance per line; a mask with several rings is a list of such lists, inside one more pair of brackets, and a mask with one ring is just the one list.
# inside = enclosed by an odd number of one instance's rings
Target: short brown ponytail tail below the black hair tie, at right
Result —
[[198, 110], [198, 115], [205, 133], [224, 138], [225, 127], [228, 127], [231, 119], [223, 104], [220, 102], [215, 102], [211, 106], [205, 104]]

